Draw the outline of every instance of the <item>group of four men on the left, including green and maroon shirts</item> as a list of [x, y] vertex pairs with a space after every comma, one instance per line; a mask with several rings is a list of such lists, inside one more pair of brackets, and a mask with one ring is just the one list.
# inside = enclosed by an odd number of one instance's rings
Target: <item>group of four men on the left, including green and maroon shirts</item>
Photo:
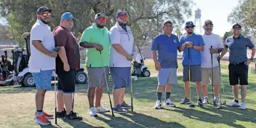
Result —
[[[51, 124], [48, 119], [52, 119], [53, 115], [44, 112], [43, 106], [45, 92], [51, 89], [54, 70], [58, 76], [57, 117], [82, 119], [73, 112], [72, 94], [75, 92], [76, 69], [80, 65], [79, 50], [84, 48], [87, 49], [89, 115], [97, 116], [97, 112], [109, 111], [100, 104], [103, 87], [108, 84], [109, 70], [113, 79], [113, 111], [126, 113], [131, 106], [124, 102], [124, 92], [131, 84], [131, 61], [136, 55], [132, 30], [127, 26], [127, 12], [116, 14], [116, 24], [110, 31], [105, 28], [108, 17], [98, 13], [95, 23], [84, 30], [80, 41], [71, 32], [73, 15], [65, 12], [60, 25], [51, 31], [47, 25], [52, 19], [51, 12], [52, 9], [40, 7], [36, 12], [36, 23], [31, 28], [29, 71], [37, 89], [36, 124]], [[56, 51], [56, 47], [60, 49]]]

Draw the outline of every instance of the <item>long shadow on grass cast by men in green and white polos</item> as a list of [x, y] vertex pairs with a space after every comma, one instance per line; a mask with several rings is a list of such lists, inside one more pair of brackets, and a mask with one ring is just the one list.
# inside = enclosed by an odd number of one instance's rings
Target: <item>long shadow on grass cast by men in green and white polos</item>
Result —
[[128, 119], [124, 119], [119, 116], [113, 117], [108, 114], [103, 114], [103, 116], [107, 116], [108, 118], [110, 118], [110, 120], [104, 119], [100, 116], [97, 116], [95, 118], [105, 122], [110, 127], [184, 127], [182, 124], [179, 124], [177, 122], [161, 121], [159, 119], [153, 118], [152, 116], [147, 116], [143, 113], [130, 112], [121, 115], [126, 116]]

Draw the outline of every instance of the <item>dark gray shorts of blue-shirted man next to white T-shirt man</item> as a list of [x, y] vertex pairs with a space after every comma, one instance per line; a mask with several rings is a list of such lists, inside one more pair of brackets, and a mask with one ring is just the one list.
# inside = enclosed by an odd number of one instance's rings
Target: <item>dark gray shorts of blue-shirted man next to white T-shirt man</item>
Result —
[[[188, 65], [183, 65], [183, 81], [189, 81], [188, 79]], [[201, 81], [201, 65], [191, 65], [191, 81]]]

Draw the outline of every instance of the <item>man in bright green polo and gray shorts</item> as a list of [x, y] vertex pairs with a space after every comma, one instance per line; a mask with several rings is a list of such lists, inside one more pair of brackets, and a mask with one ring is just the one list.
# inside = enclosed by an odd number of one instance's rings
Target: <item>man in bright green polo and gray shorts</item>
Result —
[[97, 113], [110, 111], [100, 104], [103, 87], [107, 84], [105, 77], [108, 79], [110, 61], [109, 49], [111, 47], [111, 41], [109, 39], [108, 28], [105, 27], [107, 20], [108, 17], [103, 13], [97, 13], [95, 15], [95, 23], [84, 30], [80, 40], [80, 46], [87, 48], [87, 97], [89, 100], [90, 116], [97, 116]]

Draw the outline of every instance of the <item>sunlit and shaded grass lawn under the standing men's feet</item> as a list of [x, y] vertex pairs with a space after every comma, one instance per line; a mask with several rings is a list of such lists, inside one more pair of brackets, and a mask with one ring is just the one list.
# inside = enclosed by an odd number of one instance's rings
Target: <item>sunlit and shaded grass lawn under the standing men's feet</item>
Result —
[[[153, 63], [145, 61], [151, 72], [154, 73]], [[225, 67], [227, 63], [221, 66]], [[181, 66], [179, 66], [182, 68]], [[229, 103], [232, 100], [232, 88], [228, 85], [228, 73], [223, 69], [223, 85], [225, 87], [225, 100]], [[256, 75], [249, 73], [249, 87], [247, 92], [247, 111], [238, 108], [228, 108], [223, 106], [222, 110], [217, 110], [212, 105], [205, 105], [204, 108], [189, 108], [188, 105], [180, 105], [183, 100], [183, 81], [179, 76], [178, 84], [172, 87], [172, 101], [177, 108], [164, 106], [161, 110], [153, 109], [156, 100], [157, 78], [139, 78], [133, 82], [134, 111], [124, 114], [100, 113], [97, 117], [91, 117], [87, 111], [89, 109], [87, 100], [87, 85], [77, 84], [74, 111], [79, 116], [84, 117], [83, 121], [63, 121], [58, 119], [58, 126], [52, 120], [52, 126], [48, 127], [256, 127], [255, 111], [255, 91]], [[113, 81], [109, 81], [112, 92]], [[44, 111], [54, 113], [55, 100], [54, 89], [47, 92], [44, 102]], [[208, 86], [209, 100], [212, 98], [212, 87]], [[34, 124], [33, 114], [35, 113], [34, 95], [35, 88], [25, 88], [20, 86], [0, 87], [0, 127], [40, 127]], [[223, 95], [223, 94], [222, 94]], [[191, 96], [193, 103], [196, 101], [195, 84], [191, 84]], [[162, 99], [164, 99], [163, 95]], [[241, 97], [241, 96], [240, 96]], [[130, 88], [127, 89], [125, 100], [130, 103]], [[111, 95], [113, 102], [113, 97]], [[104, 91], [102, 104], [110, 108], [108, 93]]]

